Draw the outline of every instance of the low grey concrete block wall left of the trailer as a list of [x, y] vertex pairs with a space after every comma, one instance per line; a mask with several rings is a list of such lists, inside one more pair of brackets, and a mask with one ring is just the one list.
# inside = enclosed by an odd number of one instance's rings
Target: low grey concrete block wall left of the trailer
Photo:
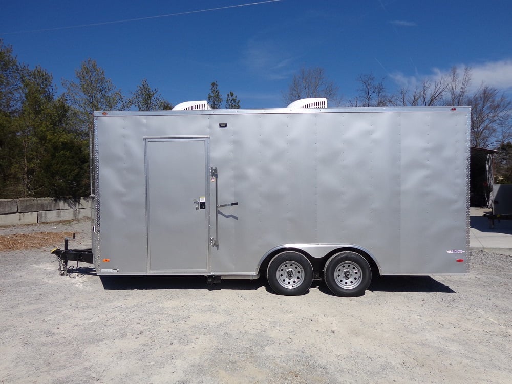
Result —
[[91, 217], [91, 199], [0, 199], [0, 226]]

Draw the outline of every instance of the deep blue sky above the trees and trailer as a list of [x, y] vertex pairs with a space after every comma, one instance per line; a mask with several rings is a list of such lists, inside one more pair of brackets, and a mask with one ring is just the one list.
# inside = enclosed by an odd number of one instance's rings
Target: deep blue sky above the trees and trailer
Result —
[[[254, 3], [2, 0], [0, 38], [19, 61], [52, 73], [58, 92], [92, 58], [125, 94], [147, 78], [173, 105], [206, 99], [216, 80], [242, 108], [285, 106], [301, 67], [324, 68], [344, 102], [362, 73], [386, 76], [392, 92], [453, 66], [472, 67], [473, 87], [512, 94], [508, 0]], [[132, 21], [110, 23], [122, 20]]]

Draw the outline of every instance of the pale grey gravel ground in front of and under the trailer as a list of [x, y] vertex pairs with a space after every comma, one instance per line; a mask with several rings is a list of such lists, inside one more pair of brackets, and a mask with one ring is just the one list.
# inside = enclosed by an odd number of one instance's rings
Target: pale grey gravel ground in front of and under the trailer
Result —
[[[90, 222], [0, 228], [77, 233]], [[54, 241], [54, 240], [52, 240]], [[473, 249], [470, 277], [384, 277], [341, 298], [263, 280], [59, 276], [48, 244], [0, 252], [2, 383], [509, 383], [512, 252]]]

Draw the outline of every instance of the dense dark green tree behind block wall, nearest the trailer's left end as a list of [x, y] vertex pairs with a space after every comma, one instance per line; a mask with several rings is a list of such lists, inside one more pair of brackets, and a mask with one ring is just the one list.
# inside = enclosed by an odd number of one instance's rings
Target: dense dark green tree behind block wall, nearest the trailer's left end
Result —
[[18, 195], [84, 196], [88, 192], [88, 146], [69, 120], [63, 97], [55, 99], [53, 78], [36, 67], [24, 79], [22, 111], [13, 120], [19, 156], [14, 166]]

